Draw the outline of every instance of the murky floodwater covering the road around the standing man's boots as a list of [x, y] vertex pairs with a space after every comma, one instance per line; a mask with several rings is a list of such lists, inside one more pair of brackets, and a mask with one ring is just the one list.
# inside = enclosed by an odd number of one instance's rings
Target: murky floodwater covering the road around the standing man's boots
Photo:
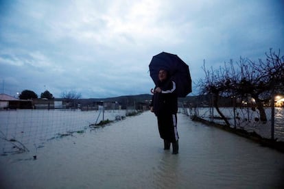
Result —
[[1, 188], [283, 188], [284, 154], [178, 114], [180, 153], [151, 112], [0, 156]]

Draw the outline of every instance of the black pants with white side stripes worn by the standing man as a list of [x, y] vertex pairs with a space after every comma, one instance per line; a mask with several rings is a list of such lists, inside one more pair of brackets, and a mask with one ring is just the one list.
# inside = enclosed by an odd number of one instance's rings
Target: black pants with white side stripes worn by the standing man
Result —
[[157, 116], [158, 131], [161, 138], [169, 142], [178, 140], [178, 129], [176, 123], [178, 121], [176, 114], [161, 114]]

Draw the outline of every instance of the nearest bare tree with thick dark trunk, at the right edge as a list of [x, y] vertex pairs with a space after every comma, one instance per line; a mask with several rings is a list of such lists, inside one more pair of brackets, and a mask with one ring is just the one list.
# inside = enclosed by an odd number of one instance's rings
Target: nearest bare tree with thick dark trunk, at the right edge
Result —
[[271, 100], [272, 90], [276, 86], [281, 92], [280, 86], [284, 84], [284, 56], [280, 55], [280, 50], [275, 53], [272, 49], [265, 55], [265, 62], [261, 59], [258, 62], [248, 60], [247, 64], [241, 65], [241, 82], [239, 88], [236, 88], [241, 95], [250, 95], [255, 99], [261, 121], [267, 121], [263, 103]]

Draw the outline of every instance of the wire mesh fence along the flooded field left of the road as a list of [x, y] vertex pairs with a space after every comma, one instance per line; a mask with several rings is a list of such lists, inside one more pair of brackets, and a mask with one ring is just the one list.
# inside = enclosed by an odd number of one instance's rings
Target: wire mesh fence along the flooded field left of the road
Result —
[[100, 121], [120, 120], [135, 110], [8, 110], [0, 111], [2, 155], [32, 151], [48, 140], [83, 133]]

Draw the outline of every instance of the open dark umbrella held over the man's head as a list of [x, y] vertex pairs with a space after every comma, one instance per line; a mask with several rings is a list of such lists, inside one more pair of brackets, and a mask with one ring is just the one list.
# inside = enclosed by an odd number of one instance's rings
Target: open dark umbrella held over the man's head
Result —
[[165, 69], [169, 72], [171, 79], [176, 82], [178, 97], [186, 97], [191, 92], [189, 66], [178, 55], [165, 52], [154, 55], [149, 68], [150, 76], [156, 86], [158, 85], [158, 71]]

